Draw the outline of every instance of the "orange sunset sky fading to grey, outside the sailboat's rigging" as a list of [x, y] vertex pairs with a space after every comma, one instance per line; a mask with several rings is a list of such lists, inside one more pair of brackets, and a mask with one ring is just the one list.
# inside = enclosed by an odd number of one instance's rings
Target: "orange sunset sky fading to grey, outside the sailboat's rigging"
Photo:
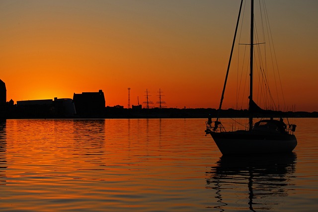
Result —
[[[257, 5], [257, 0], [255, 4]], [[7, 100], [105, 93], [217, 108], [239, 0], [0, 0]], [[287, 107], [318, 111], [318, 1], [266, 1]], [[248, 12], [249, 10], [246, 10]], [[247, 41], [248, 42], [248, 41]], [[230, 74], [231, 75], [231, 74]], [[224, 107], [235, 97], [226, 93]]]

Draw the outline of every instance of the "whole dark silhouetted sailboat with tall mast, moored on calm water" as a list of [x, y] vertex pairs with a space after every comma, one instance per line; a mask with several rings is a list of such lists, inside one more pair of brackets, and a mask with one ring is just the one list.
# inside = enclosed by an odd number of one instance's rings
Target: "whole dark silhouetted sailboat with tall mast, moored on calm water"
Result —
[[[242, 7], [241, 0], [239, 8], [239, 16]], [[227, 83], [227, 78], [229, 74], [234, 44], [236, 40], [236, 34], [238, 31], [239, 17], [235, 30], [235, 36], [233, 40], [230, 61], [228, 65], [228, 70], [226, 74], [226, 79], [222, 91], [220, 107], [218, 110], [218, 117], [216, 121], [212, 121], [209, 117], [206, 122], [206, 135], [210, 134], [217, 144], [223, 155], [228, 154], [271, 154], [271, 153], [287, 153], [292, 152], [297, 145], [297, 139], [294, 135], [296, 130], [296, 125], [285, 124], [282, 117], [278, 120], [274, 117], [269, 117], [265, 115], [266, 119], [261, 119], [260, 121], [253, 124], [254, 116], [259, 116], [260, 112], [266, 112], [266, 110], [261, 109], [253, 100], [253, 46], [256, 45], [253, 42], [254, 34], [254, 1], [251, 0], [251, 15], [250, 15], [250, 59], [249, 59], [249, 96], [248, 96], [248, 126], [244, 130], [237, 131], [226, 131], [220, 121], [220, 111], [222, 107], [222, 102], [224, 99], [224, 93]], [[281, 113], [277, 113], [281, 114]], [[288, 120], [288, 119], [287, 119]]]

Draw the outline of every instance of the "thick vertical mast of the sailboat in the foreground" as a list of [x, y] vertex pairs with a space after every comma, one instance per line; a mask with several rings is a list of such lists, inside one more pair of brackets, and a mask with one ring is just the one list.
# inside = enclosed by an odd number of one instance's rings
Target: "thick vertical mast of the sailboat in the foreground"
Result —
[[249, 72], [249, 130], [252, 130], [253, 128], [253, 116], [252, 116], [252, 111], [251, 111], [251, 104], [253, 102], [253, 33], [254, 33], [254, 0], [251, 0], [250, 2], [250, 61], [249, 61], [249, 66], [250, 66], [250, 72]]

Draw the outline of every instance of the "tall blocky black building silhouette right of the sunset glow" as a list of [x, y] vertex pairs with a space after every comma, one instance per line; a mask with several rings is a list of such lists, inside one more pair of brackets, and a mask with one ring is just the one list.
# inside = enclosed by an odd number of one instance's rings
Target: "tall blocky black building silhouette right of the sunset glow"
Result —
[[73, 102], [76, 114], [83, 118], [101, 118], [105, 113], [105, 96], [102, 90], [98, 92], [74, 93]]

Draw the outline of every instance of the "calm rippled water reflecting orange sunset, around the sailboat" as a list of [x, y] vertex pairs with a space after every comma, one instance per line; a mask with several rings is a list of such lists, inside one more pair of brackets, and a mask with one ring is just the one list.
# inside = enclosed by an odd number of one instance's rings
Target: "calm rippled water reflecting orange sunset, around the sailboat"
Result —
[[318, 119], [293, 154], [223, 157], [204, 119], [6, 120], [0, 211], [316, 212]]

